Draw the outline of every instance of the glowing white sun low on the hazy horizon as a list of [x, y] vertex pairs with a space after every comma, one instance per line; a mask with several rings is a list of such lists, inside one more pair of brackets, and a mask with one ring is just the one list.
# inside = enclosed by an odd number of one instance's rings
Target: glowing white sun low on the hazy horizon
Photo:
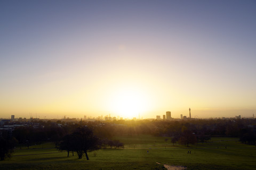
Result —
[[109, 101], [110, 111], [124, 118], [138, 118], [148, 110], [149, 105], [145, 91], [134, 87], [115, 89]]

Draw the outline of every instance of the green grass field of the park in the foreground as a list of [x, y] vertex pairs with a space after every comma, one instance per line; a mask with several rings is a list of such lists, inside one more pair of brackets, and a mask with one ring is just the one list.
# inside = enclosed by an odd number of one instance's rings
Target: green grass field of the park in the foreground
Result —
[[[0, 169], [164, 169], [156, 162], [187, 169], [256, 169], [255, 146], [234, 138], [212, 138], [189, 148], [172, 145], [168, 137], [116, 139], [126, 144], [125, 149], [101, 149], [95, 151], [96, 156], [89, 152], [90, 160], [78, 159], [76, 154], [67, 158], [67, 152], [59, 152], [51, 143], [15, 149], [11, 159], [0, 162]], [[189, 150], [191, 154], [187, 154]]]

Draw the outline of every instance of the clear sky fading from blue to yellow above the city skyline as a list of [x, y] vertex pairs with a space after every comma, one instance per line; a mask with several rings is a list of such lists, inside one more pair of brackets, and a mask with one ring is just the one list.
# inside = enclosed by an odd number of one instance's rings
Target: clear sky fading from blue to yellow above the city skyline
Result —
[[256, 116], [255, 1], [0, 1], [0, 118]]

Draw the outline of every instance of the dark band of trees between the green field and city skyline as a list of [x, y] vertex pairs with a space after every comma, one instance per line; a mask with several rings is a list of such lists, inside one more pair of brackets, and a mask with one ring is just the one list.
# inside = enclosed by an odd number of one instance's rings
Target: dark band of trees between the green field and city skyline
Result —
[[[77, 152], [78, 158], [99, 148], [123, 148], [124, 143], [112, 140], [115, 135], [151, 134], [172, 137], [171, 142], [189, 146], [195, 142], [207, 142], [211, 137], [236, 137], [241, 142], [255, 145], [256, 120], [187, 120], [187, 121], [94, 121], [61, 122], [34, 121], [38, 126], [15, 128], [10, 139], [0, 137], [1, 160], [10, 157], [14, 147], [53, 142], [59, 150]], [[88, 144], [90, 143], [90, 145]], [[6, 146], [8, 145], [8, 146]]]

